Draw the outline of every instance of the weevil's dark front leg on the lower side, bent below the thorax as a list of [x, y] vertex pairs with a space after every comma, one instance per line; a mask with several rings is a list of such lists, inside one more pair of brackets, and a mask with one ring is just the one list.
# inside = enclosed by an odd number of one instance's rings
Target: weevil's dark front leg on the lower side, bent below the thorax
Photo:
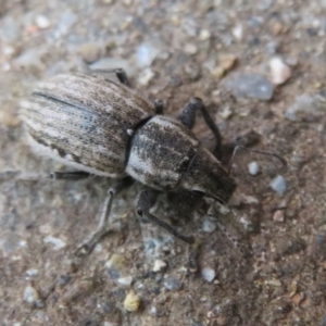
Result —
[[149, 220], [150, 222], [161, 226], [164, 228], [166, 231], [175, 236], [176, 238], [192, 244], [195, 243], [195, 238], [193, 237], [187, 237], [181, 234], [179, 234], [173, 226], [170, 224], [165, 223], [164, 221], [160, 220], [159, 217], [152, 215], [149, 211], [150, 209], [155, 204], [156, 199], [158, 199], [158, 191], [152, 190], [152, 189], [146, 189], [140, 193], [140, 197], [138, 199], [137, 203], [137, 214]]

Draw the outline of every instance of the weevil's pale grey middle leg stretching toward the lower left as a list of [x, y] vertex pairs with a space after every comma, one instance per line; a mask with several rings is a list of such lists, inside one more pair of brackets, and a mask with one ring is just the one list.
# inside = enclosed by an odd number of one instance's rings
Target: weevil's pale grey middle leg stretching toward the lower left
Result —
[[118, 192], [131, 186], [133, 183], [134, 180], [129, 176], [127, 176], [121, 179], [115, 187], [109, 189], [108, 197], [104, 201], [103, 210], [97, 229], [89, 236], [89, 238], [86, 241], [84, 241], [77, 248], [75, 255], [84, 256], [90, 254], [96, 244], [101, 240], [101, 238], [110, 231], [109, 217], [113, 199]]

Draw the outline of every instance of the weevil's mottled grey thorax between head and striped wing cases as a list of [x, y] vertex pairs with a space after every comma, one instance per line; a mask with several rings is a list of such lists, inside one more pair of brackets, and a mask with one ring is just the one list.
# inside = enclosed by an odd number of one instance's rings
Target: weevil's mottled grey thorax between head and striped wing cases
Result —
[[178, 188], [199, 140], [180, 122], [155, 115], [134, 135], [126, 172], [158, 190]]

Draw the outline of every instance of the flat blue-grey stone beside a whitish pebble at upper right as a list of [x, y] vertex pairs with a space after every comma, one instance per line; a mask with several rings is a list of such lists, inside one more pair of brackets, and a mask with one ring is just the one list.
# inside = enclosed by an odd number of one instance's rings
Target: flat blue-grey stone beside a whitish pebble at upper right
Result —
[[260, 74], [235, 74], [226, 79], [225, 87], [237, 98], [253, 98], [271, 100], [274, 93], [274, 85]]

